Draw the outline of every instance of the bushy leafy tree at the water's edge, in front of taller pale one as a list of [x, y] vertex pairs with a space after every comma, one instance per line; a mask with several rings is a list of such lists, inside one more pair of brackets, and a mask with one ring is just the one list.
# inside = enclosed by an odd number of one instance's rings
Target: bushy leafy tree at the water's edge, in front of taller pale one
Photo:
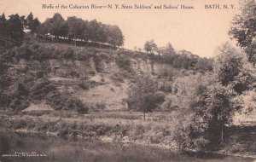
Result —
[[179, 149], [204, 150], [224, 141], [225, 124], [239, 108], [236, 92], [218, 81], [213, 72], [177, 78], [177, 124], [174, 138]]

